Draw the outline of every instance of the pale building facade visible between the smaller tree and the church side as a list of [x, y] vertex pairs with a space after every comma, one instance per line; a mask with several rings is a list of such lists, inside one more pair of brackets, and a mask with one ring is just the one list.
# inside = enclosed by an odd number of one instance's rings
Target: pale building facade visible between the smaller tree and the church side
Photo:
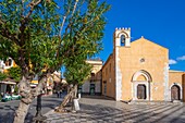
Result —
[[92, 65], [89, 78], [78, 87], [78, 91], [83, 95], [101, 95], [101, 60], [87, 60], [87, 63]]

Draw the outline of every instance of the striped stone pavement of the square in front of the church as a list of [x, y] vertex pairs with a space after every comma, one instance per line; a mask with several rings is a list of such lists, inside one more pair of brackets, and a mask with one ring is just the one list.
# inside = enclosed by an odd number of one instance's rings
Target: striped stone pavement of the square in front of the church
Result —
[[126, 104], [82, 98], [76, 113], [46, 113], [46, 123], [185, 123], [185, 104]]

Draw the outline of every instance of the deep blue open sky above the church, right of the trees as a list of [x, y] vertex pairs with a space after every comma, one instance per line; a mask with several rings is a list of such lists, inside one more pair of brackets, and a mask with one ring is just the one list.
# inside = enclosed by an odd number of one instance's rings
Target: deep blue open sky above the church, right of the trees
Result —
[[106, 61], [113, 50], [116, 27], [131, 27], [132, 41], [145, 38], [169, 49], [170, 69], [185, 71], [185, 0], [107, 0], [103, 51]]

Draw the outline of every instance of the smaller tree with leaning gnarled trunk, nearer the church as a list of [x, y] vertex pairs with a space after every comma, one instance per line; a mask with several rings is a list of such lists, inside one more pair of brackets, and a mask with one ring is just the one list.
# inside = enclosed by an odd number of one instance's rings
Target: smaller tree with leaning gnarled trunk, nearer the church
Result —
[[[69, 84], [70, 91], [63, 99], [63, 102], [60, 104], [55, 111], [63, 112], [67, 102], [73, 103], [73, 99], [77, 95], [77, 86], [82, 85], [90, 75], [92, 66], [82, 58], [72, 58], [67, 59], [67, 64], [65, 64], [64, 77]], [[73, 104], [72, 104], [73, 106]], [[72, 107], [72, 110], [74, 108]]]

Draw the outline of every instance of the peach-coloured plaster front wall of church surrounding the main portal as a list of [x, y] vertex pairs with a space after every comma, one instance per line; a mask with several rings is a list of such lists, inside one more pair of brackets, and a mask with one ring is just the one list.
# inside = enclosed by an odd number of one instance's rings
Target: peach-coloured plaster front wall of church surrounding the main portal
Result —
[[[140, 38], [131, 47], [119, 48], [120, 69], [122, 72], [122, 99], [132, 100], [132, 77], [140, 70], [147, 71], [152, 78], [151, 100], [164, 99], [164, 69], [168, 66], [168, 49]], [[144, 62], [140, 60], [144, 59]]]

